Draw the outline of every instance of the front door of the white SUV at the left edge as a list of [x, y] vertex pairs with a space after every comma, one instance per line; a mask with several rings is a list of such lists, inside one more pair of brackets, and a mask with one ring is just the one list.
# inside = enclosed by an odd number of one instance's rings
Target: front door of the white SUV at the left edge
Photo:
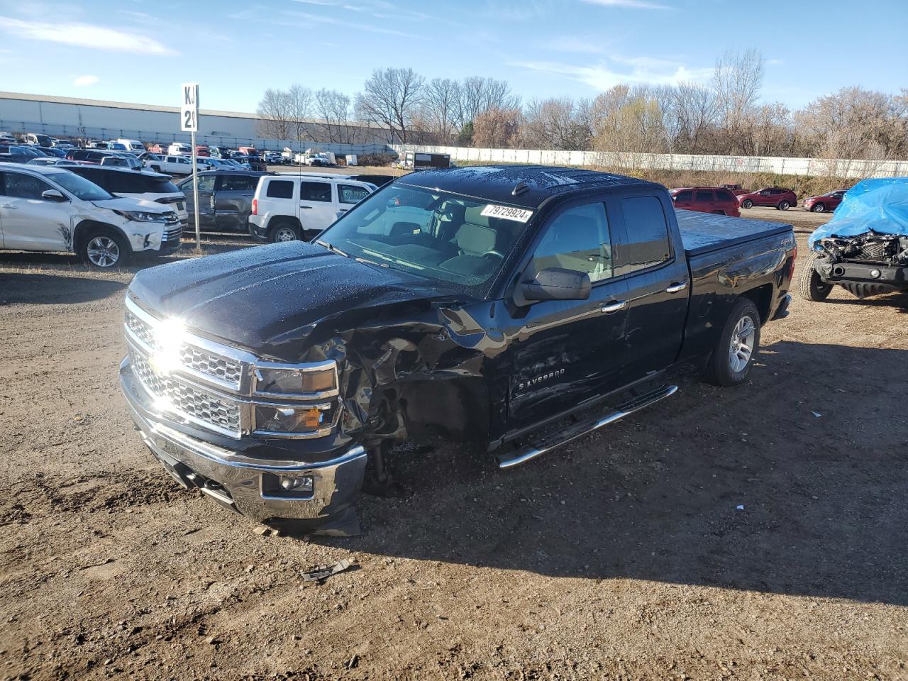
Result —
[[26, 173], [0, 173], [0, 223], [4, 247], [23, 251], [72, 251], [70, 203], [47, 201], [41, 194], [54, 189]]

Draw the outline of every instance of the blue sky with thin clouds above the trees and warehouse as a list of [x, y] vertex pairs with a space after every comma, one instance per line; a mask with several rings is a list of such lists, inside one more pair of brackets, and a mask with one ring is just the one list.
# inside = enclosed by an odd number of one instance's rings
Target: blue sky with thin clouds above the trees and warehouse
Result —
[[[856, 7], [858, 7], [856, 9]], [[355, 94], [378, 67], [506, 79], [524, 101], [708, 81], [766, 60], [762, 99], [908, 87], [908, 0], [0, 0], [0, 89], [254, 112], [299, 83]]]

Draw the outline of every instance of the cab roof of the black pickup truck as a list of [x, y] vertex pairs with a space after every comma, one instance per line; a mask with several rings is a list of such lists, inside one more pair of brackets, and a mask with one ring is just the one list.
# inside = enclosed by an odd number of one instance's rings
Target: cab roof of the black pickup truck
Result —
[[529, 209], [538, 208], [552, 196], [572, 192], [628, 186], [663, 190], [661, 184], [625, 175], [545, 165], [483, 165], [425, 170], [404, 175], [397, 182]]

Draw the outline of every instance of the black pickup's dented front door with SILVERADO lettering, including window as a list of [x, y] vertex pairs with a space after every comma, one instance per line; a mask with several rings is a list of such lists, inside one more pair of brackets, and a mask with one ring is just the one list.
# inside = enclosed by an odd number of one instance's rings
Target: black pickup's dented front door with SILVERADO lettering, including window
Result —
[[602, 202], [568, 205], [548, 221], [529, 271], [547, 268], [582, 271], [592, 290], [586, 301], [537, 301], [528, 311], [514, 312], [511, 431], [615, 390], [621, 380], [627, 284], [615, 278], [611, 230]]

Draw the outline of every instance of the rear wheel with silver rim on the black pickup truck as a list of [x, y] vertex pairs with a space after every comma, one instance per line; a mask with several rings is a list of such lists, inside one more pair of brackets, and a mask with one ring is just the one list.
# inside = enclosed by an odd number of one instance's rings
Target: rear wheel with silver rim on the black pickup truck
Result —
[[725, 320], [716, 347], [706, 360], [703, 377], [731, 388], [747, 380], [760, 348], [760, 313], [753, 301], [739, 298]]

